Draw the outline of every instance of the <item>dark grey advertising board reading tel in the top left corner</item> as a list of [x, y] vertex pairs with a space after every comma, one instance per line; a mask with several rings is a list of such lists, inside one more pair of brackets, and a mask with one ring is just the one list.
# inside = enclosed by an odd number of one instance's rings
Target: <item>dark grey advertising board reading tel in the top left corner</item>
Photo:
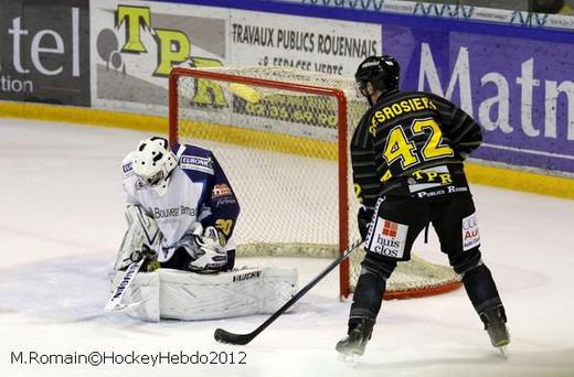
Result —
[[91, 105], [88, 6], [0, 0], [0, 100]]

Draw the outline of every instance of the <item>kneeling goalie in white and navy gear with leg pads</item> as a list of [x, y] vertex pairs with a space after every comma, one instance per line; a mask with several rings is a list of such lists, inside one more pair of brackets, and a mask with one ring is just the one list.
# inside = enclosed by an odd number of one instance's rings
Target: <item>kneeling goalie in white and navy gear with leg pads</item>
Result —
[[128, 229], [106, 310], [205, 320], [273, 312], [291, 297], [294, 270], [233, 269], [240, 205], [211, 151], [151, 137], [123, 173]]

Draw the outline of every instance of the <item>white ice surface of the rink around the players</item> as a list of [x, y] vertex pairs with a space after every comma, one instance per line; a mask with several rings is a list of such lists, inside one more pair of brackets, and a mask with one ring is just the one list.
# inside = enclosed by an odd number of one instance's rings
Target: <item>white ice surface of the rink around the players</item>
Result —
[[[106, 315], [106, 271], [125, 229], [120, 161], [147, 136], [0, 119], [0, 376], [574, 376], [574, 201], [479, 185], [472, 187], [482, 252], [512, 336], [508, 360], [490, 346], [459, 289], [385, 301], [359, 365], [338, 363], [334, 344], [344, 335], [350, 304], [337, 299], [337, 273], [244, 347], [216, 343], [213, 331], [249, 332], [265, 316], [152, 324]], [[431, 235], [415, 250], [446, 262]], [[296, 265], [302, 287], [329, 261], [272, 262]], [[40, 355], [94, 351], [226, 352], [235, 363], [244, 352], [246, 364], [18, 362], [20, 352], [42, 360]]]

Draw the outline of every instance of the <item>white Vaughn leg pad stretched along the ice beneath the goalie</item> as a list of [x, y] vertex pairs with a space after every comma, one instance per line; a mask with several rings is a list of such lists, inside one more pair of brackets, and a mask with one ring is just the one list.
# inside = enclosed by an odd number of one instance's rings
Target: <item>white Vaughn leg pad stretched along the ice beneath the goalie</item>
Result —
[[[111, 286], [121, 278], [116, 271]], [[159, 319], [217, 320], [270, 314], [297, 292], [297, 270], [247, 268], [202, 274], [158, 269], [139, 272], [123, 298], [130, 316]]]

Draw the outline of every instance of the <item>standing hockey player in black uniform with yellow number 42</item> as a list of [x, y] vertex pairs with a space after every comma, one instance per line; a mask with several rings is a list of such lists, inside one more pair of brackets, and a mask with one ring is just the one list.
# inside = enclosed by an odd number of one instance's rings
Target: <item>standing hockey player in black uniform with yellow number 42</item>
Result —
[[480, 146], [480, 126], [450, 101], [428, 93], [398, 90], [400, 66], [371, 56], [355, 73], [371, 108], [351, 141], [359, 229], [366, 255], [353, 295], [343, 355], [362, 355], [381, 309], [386, 280], [411, 258], [429, 224], [440, 249], [461, 276], [495, 347], [510, 343], [504, 308], [482, 262], [475, 205], [463, 161]]

